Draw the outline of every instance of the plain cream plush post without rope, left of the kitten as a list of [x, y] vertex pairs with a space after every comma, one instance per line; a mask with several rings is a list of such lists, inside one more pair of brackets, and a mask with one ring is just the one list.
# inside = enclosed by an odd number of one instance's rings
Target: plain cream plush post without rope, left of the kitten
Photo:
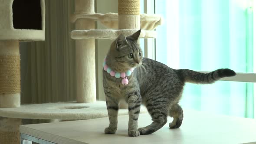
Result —
[[[94, 0], [75, 0], [75, 13], [92, 14]], [[75, 23], [77, 30], [95, 29], [94, 20], [79, 19]], [[95, 40], [79, 39], [76, 44], [76, 101], [96, 101], [96, 74], [95, 74]]]

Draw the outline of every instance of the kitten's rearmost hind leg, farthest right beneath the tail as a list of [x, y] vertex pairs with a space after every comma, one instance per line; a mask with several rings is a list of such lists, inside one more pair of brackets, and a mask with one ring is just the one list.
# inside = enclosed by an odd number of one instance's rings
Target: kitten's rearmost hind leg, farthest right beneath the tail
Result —
[[171, 106], [169, 115], [173, 117], [173, 121], [169, 124], [170, 128], [180, 128], [183, 121], [183, 110], [179, 104]]

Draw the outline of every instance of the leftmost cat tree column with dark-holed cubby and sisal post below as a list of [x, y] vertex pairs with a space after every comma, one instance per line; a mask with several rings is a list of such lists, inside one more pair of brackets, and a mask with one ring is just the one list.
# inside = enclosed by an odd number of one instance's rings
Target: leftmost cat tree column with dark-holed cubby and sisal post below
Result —
[[[24, 9], [26, 7], [26, 9]], [[45, 39], [44, 0], [0, 0], [0, 108], [20, 107], [19, 41]], [[19, 143], [21, 119], [2, 115], [0, 144]]]

